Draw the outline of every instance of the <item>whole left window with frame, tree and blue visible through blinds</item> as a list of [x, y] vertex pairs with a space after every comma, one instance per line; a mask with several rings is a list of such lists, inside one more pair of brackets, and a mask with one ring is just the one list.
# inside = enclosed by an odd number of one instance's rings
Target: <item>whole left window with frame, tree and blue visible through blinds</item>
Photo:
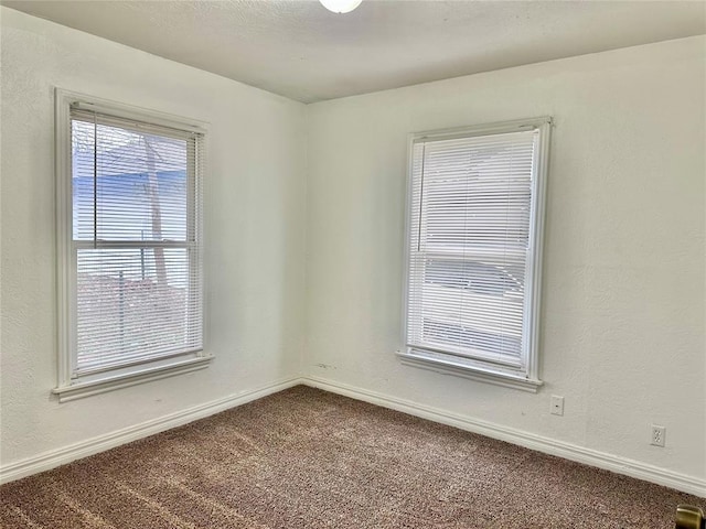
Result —
[[206, 366], [200, 126], [57, 90], [60, 399]]

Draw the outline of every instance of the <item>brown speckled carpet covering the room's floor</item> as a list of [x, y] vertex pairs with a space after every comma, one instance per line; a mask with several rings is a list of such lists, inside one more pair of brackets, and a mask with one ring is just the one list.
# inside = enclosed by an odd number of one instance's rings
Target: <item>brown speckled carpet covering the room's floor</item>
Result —
[[704, 499], [296, 387], [0, 488], [14, 528], [670, 528]]

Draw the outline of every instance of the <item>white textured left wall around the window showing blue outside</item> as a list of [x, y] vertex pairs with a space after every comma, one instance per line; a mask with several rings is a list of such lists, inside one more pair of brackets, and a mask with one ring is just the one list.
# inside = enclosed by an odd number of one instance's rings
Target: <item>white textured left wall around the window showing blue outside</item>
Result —
[[[2, 45], [0, 461], [299, 374], [306, 107], [7, 8]], [[53, 87], [211, 123], [210, 368], [58, 404]]]

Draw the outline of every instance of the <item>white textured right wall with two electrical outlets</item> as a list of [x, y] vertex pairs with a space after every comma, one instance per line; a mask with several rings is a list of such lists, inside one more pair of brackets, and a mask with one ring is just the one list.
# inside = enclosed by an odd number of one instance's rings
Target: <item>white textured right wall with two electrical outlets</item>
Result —
[[[705, 50], [693, 37], [309, 106], [310, 374], [703, 479]], [[544, 115], [544, 388], [402, 366], [407, 134]], [[651, 423], [666, 447], [649, 445]]]

